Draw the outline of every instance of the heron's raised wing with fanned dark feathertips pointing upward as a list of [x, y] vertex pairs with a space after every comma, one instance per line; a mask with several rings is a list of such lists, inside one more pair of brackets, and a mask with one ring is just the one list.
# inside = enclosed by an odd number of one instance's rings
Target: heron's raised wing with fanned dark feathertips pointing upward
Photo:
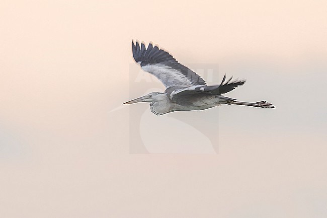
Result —
[[180, 64], [168, 52], [149, 43], [145, 49], [132, 41], [133, 57], [144, 71], [149, 72], [166, 87], [166, 89], [186, 88], [196, 85], [206, 85], [206, 82], [194, 71]]

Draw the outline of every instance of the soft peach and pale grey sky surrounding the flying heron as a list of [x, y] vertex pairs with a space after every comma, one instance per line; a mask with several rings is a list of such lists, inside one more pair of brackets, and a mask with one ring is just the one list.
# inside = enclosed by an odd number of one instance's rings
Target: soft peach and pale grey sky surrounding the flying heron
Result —
[[[326, 1], [2, 1], [0, 217], [327, 216], [326, 11]], [[165, 132], [178, 119], [120, 107], [163, 90], [130, 94], [131, 39], [190, 67], [219, 64], [214, 82], [247, 79], [227, 96], [276, 109], [185, 112], [218, 116], [218, 154], [197, 154], [208, 139], [187, 124]], [[152, 149], [191, 135], [196, 154], [130, 154], [131, 110], [144, 111]]]

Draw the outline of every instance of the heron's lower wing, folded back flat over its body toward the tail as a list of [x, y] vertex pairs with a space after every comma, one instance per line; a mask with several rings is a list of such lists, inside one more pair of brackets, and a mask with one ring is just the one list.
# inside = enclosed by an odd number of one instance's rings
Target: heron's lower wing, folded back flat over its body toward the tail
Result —
[[227, 82], [225, 82], [225, 80], [226, 80], [226, 75], [222, 79], [220, 85], [217, 86], [198, 85], [198, 86], [188, 87], [184, 89], [174, 90], [170, 94], [170, 98], [173, 101], [178, 101], [178, 99], [185, 98], [188, 95], [196, 95], [196, 94], [221, 95], [234, 90], [237, 86], [241, 86], [246, 82], [246, 80], [237, 80], [237, 79], [232, 81], [232, 77]]

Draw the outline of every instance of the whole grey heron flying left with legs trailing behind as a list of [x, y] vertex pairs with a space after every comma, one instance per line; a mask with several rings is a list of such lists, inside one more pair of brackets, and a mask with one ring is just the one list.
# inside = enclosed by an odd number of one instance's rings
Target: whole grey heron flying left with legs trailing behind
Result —
[[266, 101], [242, 102], [222, 95], [243, 85], [246, 80], [232, 80], [232, 77], [226, 80], [225, 75], [219, 85], [207, 86], [199, 75], [180, 64], [172, 55], [159, 49], [158, 46], [149, 43], [145, 48], [144, 43], [140, 45], [137, 41], [135, 44], [132, 41], [132, 51], [134, 60], [144, 71], [161, 81], [166, 91], [152, 92], [123, 104], [148, 102], [151, 112], [155, 115], [174, 111], [204, 110], [220, 104], [275, 108]]

